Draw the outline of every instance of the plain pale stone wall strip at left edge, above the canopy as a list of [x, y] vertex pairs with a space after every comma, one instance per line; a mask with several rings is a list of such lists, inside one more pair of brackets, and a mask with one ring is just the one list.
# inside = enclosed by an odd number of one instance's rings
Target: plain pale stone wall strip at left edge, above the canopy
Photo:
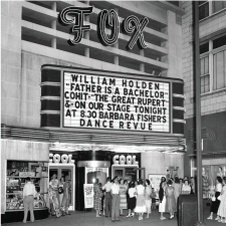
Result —
[[21, 2], [1, 1], [1, 121], [20, 124]]

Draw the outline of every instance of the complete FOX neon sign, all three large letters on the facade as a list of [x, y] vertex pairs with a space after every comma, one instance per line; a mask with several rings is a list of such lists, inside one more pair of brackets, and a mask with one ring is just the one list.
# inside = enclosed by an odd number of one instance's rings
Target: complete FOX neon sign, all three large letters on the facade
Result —
[[[75, 7], [69, 6], [63, 9], [59, 14], [60, 23], [63, 25], [74, 24], [72, 26], [72, 33], [74, 33], [74, 39], [70, 39], [70, 44], [78, 44], [81, 42], [84, 31], [90, 30], [90, 25], [84, 24], [84, 16], [90, 15], [93, 11], [93, 7]], [[144, 17], [139, 20], [138, 17], [131, 15], [128, 16], [122, 22], [122, 29], [125, 33], [131, 34], [131, 39], [128, 42], [127, 48], [133, 49], [137, 43], [140, 48], [147, 48], [147, 44], [144, 39], [144, 29], [149, 23], [149, 19]], [[106, 29], [111, 31], [111, 34], [106, 33]], [[113, 9], [103, 9], [99, 13], [98, 17], [98, 37], [103, 45], [110, 46], [115, 44], [119, 39], [120, 23], [117, 12]]]

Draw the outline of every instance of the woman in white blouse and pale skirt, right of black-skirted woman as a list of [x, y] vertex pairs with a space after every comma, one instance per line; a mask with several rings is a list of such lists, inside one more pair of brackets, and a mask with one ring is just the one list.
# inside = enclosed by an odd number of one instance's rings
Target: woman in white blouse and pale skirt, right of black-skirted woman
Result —
[[138, 220], [143, 220], [143, 214], [146, 211], [145, 205], [145, 188], [143, 185], [143, 181], [139, 180], [138, 185], [136, 186], [136, 194], [137, 194], [137, 202], [135, 207], [135, 212], [139, 214]]

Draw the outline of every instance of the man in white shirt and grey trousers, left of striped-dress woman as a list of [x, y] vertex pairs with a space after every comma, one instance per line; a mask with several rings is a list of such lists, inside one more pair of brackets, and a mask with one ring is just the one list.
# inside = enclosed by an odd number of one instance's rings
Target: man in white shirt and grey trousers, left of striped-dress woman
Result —
[[111, 220], [119, 221], [119, 182], [118, 177], [114, 177], [113, 184], [111, 186], [111, 195], [112, 195], [112, 207], [111, 207]]

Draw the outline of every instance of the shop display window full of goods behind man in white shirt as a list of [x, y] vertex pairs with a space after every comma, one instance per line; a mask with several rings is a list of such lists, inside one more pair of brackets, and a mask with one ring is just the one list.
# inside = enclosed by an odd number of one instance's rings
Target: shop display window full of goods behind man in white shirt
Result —
[[6, 210], [23, 209], [23, 187], [25, 178], [30, 177], [35, 185], [37, 195], [34, 199], [34, 208], [46, 207], [48, 184], [48, 163], [7, 161], [6, 179]]

